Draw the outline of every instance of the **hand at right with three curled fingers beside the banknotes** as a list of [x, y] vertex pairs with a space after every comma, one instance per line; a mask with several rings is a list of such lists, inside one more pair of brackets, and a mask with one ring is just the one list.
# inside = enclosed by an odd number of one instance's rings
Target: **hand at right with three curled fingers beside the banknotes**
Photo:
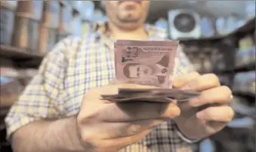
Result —
[[175, 119], [180, 131], [190, 139], [202, 139], [219, 132], [233, 119], [230, 88], [221, 86], [215, 74], [190, 73], [174, 78], [174, 87], [197, 90], [202, 94], [189, 102], [178, 103], [180, 116]]

